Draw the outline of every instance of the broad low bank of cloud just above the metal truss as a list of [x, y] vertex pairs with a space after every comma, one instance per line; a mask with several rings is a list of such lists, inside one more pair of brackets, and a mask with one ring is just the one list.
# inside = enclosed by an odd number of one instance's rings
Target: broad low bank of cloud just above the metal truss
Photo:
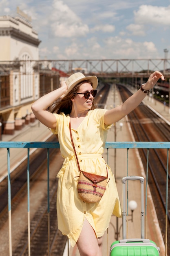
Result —
[[68, 45], [64, 54], [56, 52], [58, 59], [107, 59], [107, 58], [158, 58], [155, 44], [151, 41], [135, 42], [131, 38], [121, 36], [108, 37], [97, 41], [92, 37], [84, 43], [75, 41]]

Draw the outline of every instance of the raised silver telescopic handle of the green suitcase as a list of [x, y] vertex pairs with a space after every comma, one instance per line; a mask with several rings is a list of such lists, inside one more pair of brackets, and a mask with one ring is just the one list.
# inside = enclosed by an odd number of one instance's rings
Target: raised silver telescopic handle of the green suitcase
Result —
[[126, 239], [126, 181], [140, 180], [141, 182], [141, 238], [144, 238], [144, 177], [141, 176], [126, 176], [121, 179], [123, 184], [123, 211], [122, 211], [122, 232], [123, 239]]

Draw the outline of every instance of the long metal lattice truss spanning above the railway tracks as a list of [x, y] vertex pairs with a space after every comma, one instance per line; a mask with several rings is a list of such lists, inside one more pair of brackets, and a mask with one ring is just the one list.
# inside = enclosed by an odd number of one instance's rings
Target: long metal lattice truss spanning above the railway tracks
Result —
[[108, 77], [148, 77], [153, 71], [159, 70], [170, 77], [170, 59], [79, 59], [79, 60], [29, 60], [29, 61], [0, 61], [0, 74], [8, 70], [29, 65], [36, 70], [60, 70], [66, 74], [82, 72], [86, 75]]

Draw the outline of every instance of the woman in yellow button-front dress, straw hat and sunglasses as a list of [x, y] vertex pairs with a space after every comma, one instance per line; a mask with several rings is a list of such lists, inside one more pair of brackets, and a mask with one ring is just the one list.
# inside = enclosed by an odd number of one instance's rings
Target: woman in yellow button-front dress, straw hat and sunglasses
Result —
[[[108, 186], [97, 203], [83, 202], [77, 193], [79, 169], [71, 142], [75, 144], [80, 168], [89, 173], [106, 176], [106, 163], [102, 158], [111, 124], [119, 121], [136, 108], [157, 83], [164, 80], [156, 71], [148, 81], [121, 106], [106, 110], [95, 106], [97, 77], [82, 73], [71, 75], [60, 88], [44, 95], [32, 105], [35, 117], [58, 136], [64, 163], [59, 171], [57, 192], [58, 228], [68, 236], [71, 245], [77, 243], [81, 256], [102, 256], [102, 236], [110, 217], [121, 217], [121, 206], [115, 179], [107, 166]], [[56, 101], [57, 100], [57, 101]]]

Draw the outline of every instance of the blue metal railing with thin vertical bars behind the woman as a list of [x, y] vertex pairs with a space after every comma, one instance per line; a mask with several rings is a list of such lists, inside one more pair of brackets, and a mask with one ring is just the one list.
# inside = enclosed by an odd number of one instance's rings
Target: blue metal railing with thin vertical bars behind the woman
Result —
[[[27, 190], [28, 190], [28, 253], [31, 255], [31, 242], [30, 242], [30, 184], [29, 184], [29, 157], [30, 157], [30, 148], [47, 148], [47, 172], [48, 172], [48, 184], [47, 184], [47, 194], [48, 194], [48, 223], [49, 223], [49, 149], [50, 148], [60, 148], [58, 142], [27, 142], [27, 141], [3, 141], [0, 142], [0, 148], [7, 148], [7, 170], [8, 170], [8, 210], [9, 210], [9, 256], [12, 256], [12, 232], [11, 232], [11, 178], [10, 178], [10, 149], [11, 148], [27, 148]], [[149, 149], [157, 148], [157, 149], [167, 149], [167, 179], [166, 179], [166, 240], [165, 240], [165, 255], [167, 255], [167, 225], [168, 225], [168, 165], [169, 165], [169, 148], [170, 142], [106, 142], [105, 148], [107, 149], [107, 159], [109, 155], [109, 149], [113, 148], [124, 148], [127, 149], [127, 170], [126, 175], [128, 176], [128, 150], [130, 148], [146, 148], [148, 150], [147, 154], [147, 166], [146, 166], [146, 195], [147, 195], [147, 179], [148, 179], [148, 157], [149, 157]], [[147, 196], [146, 196], [147, 198]], [[147, 203], [146, 203], [147, 205]], [[145, 209], [146, 212], [146, 209]], [[49, 228], [49, 227], [48, 227]], [[50, 240], [49, 240], [50, 247]], [[49, 252], [50, 255], [50, 252]]]

